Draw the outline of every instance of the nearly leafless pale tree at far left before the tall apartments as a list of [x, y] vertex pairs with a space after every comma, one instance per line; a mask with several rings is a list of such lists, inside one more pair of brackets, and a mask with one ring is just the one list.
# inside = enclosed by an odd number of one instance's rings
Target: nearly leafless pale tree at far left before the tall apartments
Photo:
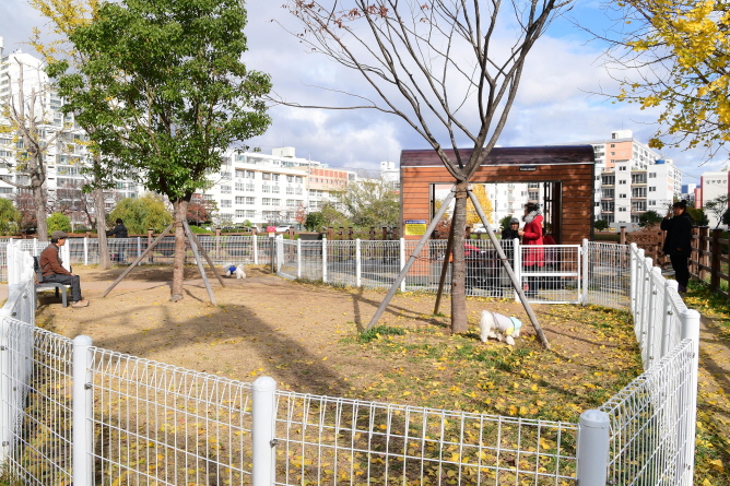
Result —
[[[15, 142], [14, 157], [3, 158], [3, 163], [15, 174], [20, 175], [14, 181], [5, 178], [4, 181], [21, 190], [28, 190], [33, 195], [33, 206], [37, 224], [37, 235], [40, 240], [48, 239], [46, 156], [48, 147], [63, 133], [63, 127], [51, 123], [48, 110], [50, 86], [44, 82], [39, 67], [33, 79], [26, 82], [25, 68], [30, 68], [17, 56], [10, 56], [11, 68], [17, 68], [17, 79], [13, 83], [10, 69], [5, 73], [10, 93], [2, 106], [5, 123], [2, 130], [13, 137]], [[14, 84], [14, 86], [13, 86]]]

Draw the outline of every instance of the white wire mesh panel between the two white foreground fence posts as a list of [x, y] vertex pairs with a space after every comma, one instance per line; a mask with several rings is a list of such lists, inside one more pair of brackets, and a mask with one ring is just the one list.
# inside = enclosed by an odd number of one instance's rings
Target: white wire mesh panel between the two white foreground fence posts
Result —
[[250, 384], [92, 348], [95, 484], [246, 484]]

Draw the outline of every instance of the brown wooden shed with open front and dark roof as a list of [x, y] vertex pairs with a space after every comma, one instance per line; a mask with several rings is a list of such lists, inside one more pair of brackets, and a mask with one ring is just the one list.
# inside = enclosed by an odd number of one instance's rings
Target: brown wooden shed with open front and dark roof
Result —
[[[461, 151], [462, 159], [468, 159], [471, 152]], [[446, 153], [456, 159], [454, 151]], [[540, 182], [543, 212], [553, 237], [557, 244], [577, 245], [592, 237], [594, 167], [591, 145], [495, 147], [472, 183]], [[436, 188], [452, 185], [454, 177], [433, 150], [401, 152], [400, 171], [401, 225], [405, 221], [429, 223], [436, 213]], [[516, 211], [521, 212], [521, 208]]]

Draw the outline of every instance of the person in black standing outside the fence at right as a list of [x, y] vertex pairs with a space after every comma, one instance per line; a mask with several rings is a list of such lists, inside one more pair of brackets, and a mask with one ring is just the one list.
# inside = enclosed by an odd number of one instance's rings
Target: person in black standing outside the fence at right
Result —
[[662, 251], [669, 254], [674, 269], [674, 278], [679, 284], [679, 292], [687, 292], [690, 269], [687, 263], [692, 257], [692, 226], [694, 220], [687, 213], [687, 202], [682, 200], [672, 204], [672, 211], [661, 222], [661, 229], [667, 232]]

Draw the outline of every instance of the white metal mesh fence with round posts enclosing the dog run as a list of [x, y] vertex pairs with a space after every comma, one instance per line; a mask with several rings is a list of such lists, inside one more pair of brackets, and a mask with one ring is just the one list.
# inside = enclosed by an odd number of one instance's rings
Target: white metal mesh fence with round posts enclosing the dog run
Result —
[[[293, 277], [362, 283], [363, 253], [395, 258], [385, 273], [398, 272], [405, 247], [386, 244], [273, 251]], [[646, 368], [568, 424], [303, 395], [266, 377], [232, 381], [70, 341], [34, 327], [32, 262], [19, 246], [8, 247], [0, 315], [0, 459], [24, 484], [692, 484], [699, 315], [635, 247], [561, 249], [585, 257], [576, 268], [593, 266], [554, 272], [589, 291], [584, 303], [629, 304]], [[249, 250], [270, 256], [272, 246]], [[381, 268], [369, 269], [372, 281], [387, 283]]]

